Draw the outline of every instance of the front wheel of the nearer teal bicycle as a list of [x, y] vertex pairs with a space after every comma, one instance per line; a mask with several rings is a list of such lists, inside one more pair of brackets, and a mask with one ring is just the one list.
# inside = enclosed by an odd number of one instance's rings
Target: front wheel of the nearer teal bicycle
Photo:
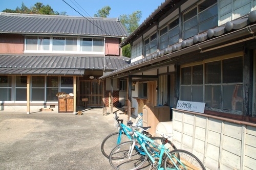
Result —
[[129, 158], [129, 151], [132, 147], [133, 141], [126, 141], [118, 144], [110, 153], [109, 161], [111, 166], [117, 170], [133, 170], [141, 167], [147, 160], [147, 155], [140, 144], [136, 143], [131, 158]]

